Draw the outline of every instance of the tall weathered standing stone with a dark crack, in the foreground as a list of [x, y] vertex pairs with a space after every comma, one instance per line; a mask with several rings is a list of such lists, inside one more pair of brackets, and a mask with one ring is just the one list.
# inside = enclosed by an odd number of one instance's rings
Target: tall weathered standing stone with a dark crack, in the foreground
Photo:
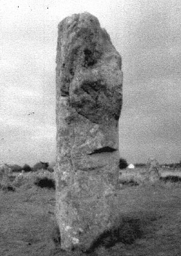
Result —
[[62, 249], [88, 249], [111, 225], [119, 173], [121, 56], [89, 13], [59, 24], [56, 220]]

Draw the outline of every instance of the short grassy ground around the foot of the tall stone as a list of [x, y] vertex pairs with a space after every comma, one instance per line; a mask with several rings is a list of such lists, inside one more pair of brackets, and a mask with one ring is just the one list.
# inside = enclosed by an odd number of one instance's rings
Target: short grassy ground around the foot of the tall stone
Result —
[[61, 251], [55, 242], [53, 188], [24, 184], [15, 191], [0, 190], [0, 255], [179, 256], [180, 191], [180, 181], [122, 185], [117, 191], [119, 220], [115, 223], [119, 237], [107, 233], [87, 254]]

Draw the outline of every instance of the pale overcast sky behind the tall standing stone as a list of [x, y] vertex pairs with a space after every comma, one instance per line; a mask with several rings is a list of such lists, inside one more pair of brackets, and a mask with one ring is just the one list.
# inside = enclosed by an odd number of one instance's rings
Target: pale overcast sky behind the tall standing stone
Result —
[[56, 152], [57, 25], [97, 16], [122, 56], [120, 155], [181, 159], [180, 0], [1, 0], [0, 164]]

